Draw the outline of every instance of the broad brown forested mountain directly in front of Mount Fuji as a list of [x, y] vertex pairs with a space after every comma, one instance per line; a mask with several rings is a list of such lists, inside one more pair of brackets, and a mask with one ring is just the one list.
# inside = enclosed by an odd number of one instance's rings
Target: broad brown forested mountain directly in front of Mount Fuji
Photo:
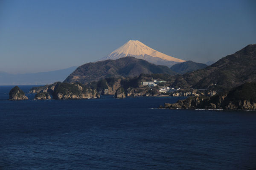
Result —
[[164, 65], [155, 65], [143, 59], [137, 59], [134, 57], [124, 57], [115, 60], [108, 59], [81, 65], [72, 74], [70, 74], [64, 82], [81, 82], [86, 84], [108, 77], [135, 77], [139, 76], [141, 73], [176, 74]]

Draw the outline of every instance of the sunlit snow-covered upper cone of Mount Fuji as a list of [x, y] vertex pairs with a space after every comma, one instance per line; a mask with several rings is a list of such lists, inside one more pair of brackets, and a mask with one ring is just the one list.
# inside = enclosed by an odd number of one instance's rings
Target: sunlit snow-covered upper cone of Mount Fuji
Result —
[[151, 56], [158, 57], [167, 61], [185, 62], [185, 60], [183, 59], [177, 59], [175, 57], [171, 57], [169, 55], [156, 51], [138, 40], [129, 40], [124, 45], [113, 51], [111, 54], [104, 57], [104, 59], [119, 59], [127, 56], [140, 58], [145, 56]]

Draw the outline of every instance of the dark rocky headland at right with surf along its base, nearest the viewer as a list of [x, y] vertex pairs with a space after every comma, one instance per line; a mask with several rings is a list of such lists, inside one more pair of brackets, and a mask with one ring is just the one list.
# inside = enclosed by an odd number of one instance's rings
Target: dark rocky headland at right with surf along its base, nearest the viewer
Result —
[[256, 110], [256, 82], [246, 82], [215, 96], [194, 96], [159, 108]]

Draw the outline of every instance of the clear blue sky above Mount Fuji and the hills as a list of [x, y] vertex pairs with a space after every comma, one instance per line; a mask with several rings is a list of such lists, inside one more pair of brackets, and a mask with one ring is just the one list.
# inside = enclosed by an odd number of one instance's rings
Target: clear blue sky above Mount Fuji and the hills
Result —
[[0, 0], [0, 71], [52, 71], [139, 40], [195, 62], [256, 43], [255, 0]]

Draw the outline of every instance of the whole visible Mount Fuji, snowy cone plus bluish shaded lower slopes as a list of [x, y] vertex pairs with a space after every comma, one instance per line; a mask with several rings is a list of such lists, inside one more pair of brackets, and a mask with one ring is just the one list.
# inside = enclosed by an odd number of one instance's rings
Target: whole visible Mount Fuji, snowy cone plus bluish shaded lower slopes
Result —
[[157, 65], [166, 65], [168, 67], [171, 67], [172, 65], [180, 62], [185, 62], [183, 59], [177, 59], [175, 57], [171, 57], [156, 51], [138, 40], [129, 40], [124, 45], [113, 51], [111, 54], [108, 54], [106, 57], [103, 57], [98, 61], [107, 59], [119, 59], [128, 56], [144, 59]]

